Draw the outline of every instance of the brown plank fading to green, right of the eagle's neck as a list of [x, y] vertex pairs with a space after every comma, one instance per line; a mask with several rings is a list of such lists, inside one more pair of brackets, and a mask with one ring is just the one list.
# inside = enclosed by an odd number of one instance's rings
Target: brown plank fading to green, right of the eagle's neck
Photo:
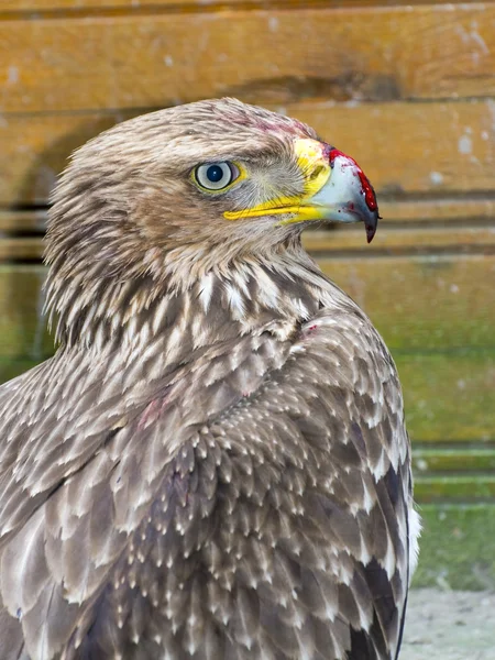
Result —
[[495, 256], [320, 257], [318, 263], [370, 315], [396, 354], [494, 345]]

